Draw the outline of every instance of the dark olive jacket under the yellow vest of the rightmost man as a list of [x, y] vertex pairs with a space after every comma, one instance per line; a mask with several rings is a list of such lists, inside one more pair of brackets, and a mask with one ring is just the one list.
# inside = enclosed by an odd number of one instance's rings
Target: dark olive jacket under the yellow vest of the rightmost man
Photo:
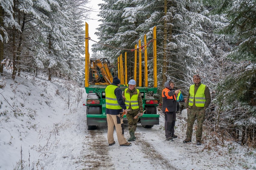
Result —
[[[198, 84], [198, 86], [195, 84], [195, 91], [194, 91], [194, 94], [196, 94], [197, 92], [197, 89], [198, 87], [201, 85], [201, 83]], [[192, 109], [197, 109], [197, 110], [200, 110], [202, 108], [204, 108], [205, 110], [207, 109], [207, 107], [209, 107], [210, 103], [211, 103], [211, 94], [210, 94], [210, 90], [209, 88], [206, 86], [205, 87], [205, 90], [204, 90], [204, 95], [205, 95], [205, 105], [204, 107], [197, 107], [196, 104], [195, 104], [195, 100], [193, 101], [193, 106], [189, 106], [188, 105], [188, 101], [189, 101], [189, 97], [190, 97], [190, 93], [189, 93], [189, 90], [188, 89], [188, 95], [187, 95], [187, 102], [186, 102], [186, 108], [192, 108]]]

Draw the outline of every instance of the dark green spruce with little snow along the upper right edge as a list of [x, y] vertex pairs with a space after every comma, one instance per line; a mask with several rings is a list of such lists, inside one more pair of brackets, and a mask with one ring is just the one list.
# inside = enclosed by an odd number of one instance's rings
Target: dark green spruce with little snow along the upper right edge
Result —
[[[230, 41], [227, 58], [240, 63], [226, 77], [223, 84], [224, 96], [230, 104], [239, 101], [248, 112], [256, 112], [256, 7], [253, 1], [218, 1], [213, 13], [226, 14], [229, 24], [216, 29]], [[233, 104], [232, 104], [233, 105]]]

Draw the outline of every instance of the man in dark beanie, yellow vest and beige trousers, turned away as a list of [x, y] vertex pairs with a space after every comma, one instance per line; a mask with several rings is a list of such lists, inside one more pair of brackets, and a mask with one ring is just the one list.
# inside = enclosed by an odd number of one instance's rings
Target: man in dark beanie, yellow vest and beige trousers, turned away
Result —
[[113, 78], [113, 83], [105, 89], [106, 93], [106, 115], [108, 122], [108, 145], [112, 146], [114, 141], [114, 126], [116, 127], [117, 140], [120, 146], [131, 146], [124, 137], [124, 124], [121, 112], [127, 113], [126, 105], [123, 101], [122, 90], [119, 88], [120, 80]]

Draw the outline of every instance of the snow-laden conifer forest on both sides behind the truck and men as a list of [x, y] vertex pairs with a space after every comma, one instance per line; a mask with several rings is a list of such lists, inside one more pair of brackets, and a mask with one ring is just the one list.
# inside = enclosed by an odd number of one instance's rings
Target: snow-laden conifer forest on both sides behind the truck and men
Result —
[[[84, 87], [84, 20], [90, 20], [93, 11], [88, 3], [0, 0], [0, 88], [7, 71], [13, 80], [27, 72]], [[126, 51], [128, 79], [132, 78], [134, 52], [125, 49], [134, 49], [139, 39], [144, 42], [145, 34], [147, 42], [152, 40], [156, 26], [156, 97], [161, 98], [167, 80], [186, 96], [193, 75], [199, 74], [212, 97], [206, 110], [207, 132], [212, 138], [256, 147], [254, 0], [104, 0], [99, 7], [99, 39], [89, 41], [91, 57], [117, 63]], [[148, 74], [152, 86], [152, 43], [147, 52], [148, 73], [142, 76]]]

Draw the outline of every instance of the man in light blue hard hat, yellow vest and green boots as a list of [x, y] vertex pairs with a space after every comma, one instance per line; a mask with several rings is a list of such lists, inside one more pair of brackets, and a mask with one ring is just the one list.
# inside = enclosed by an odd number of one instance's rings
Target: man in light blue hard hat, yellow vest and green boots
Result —
[[140, 113], [141, 116], [143, 115], [143, 106], [141, 93], [138, 89], [135, 88], [136, 81], [131, 79], [128, 84], [129, 88], [123, 91], [123, 98], [125, 99], [126, 109], [130, 109], [130, 111], [128, 111], [126, 114], [126, 118], [129, 124], [129, 133], [131, 136], [128, 141], [133, 141], [136, 140], [135, 131], [137, 128], [137, 122], [139, 120], [139, 117], [137, 119], [134, 119], [134, 117], [138, 113]]

